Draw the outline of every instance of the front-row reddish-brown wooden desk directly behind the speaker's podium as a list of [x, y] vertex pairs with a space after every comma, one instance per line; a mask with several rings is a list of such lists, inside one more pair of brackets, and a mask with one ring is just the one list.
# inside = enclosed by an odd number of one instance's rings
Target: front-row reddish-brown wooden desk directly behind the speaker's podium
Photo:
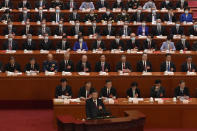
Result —
[[[75, 118], [85, 118], [84, 102], [63, 104], [54, 102], [54, 120], [59, 115], [72, 115]], [[149, 102], [149, 98], [138, 104], [128, 102], [125, 98], [115, 101], [115, 104], [107, 104], [114, 116], [124, 116], [126, 110], [138, 110], [146, 115], [145, 128], [197, 128], [196, 113], [197, 99], [192, 98], [188, 104], [180, 101], [174, 103], [172, 99], [165, 98], [163, 104]]]

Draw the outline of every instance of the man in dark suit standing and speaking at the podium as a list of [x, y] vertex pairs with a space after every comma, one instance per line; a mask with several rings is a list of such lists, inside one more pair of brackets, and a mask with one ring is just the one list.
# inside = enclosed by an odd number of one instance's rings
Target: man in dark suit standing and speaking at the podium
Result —
[[92, 92], [92, 98], [86, 101], [86, 117], [87, 119], [98, 119], [107, 117], [109, 113], [106, 112], [105, 105], [102, 99], [98, 98], [98, 92]]

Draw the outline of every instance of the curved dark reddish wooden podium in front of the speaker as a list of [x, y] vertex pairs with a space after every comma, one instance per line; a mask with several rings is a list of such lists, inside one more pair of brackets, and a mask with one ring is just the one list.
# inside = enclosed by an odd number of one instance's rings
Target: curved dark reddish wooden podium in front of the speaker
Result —
[[139, 111], [125, 111], [124, 117], [77, 120], [70, 115], [58, 116], [58, 131], [143, 131], [145, 115]]

